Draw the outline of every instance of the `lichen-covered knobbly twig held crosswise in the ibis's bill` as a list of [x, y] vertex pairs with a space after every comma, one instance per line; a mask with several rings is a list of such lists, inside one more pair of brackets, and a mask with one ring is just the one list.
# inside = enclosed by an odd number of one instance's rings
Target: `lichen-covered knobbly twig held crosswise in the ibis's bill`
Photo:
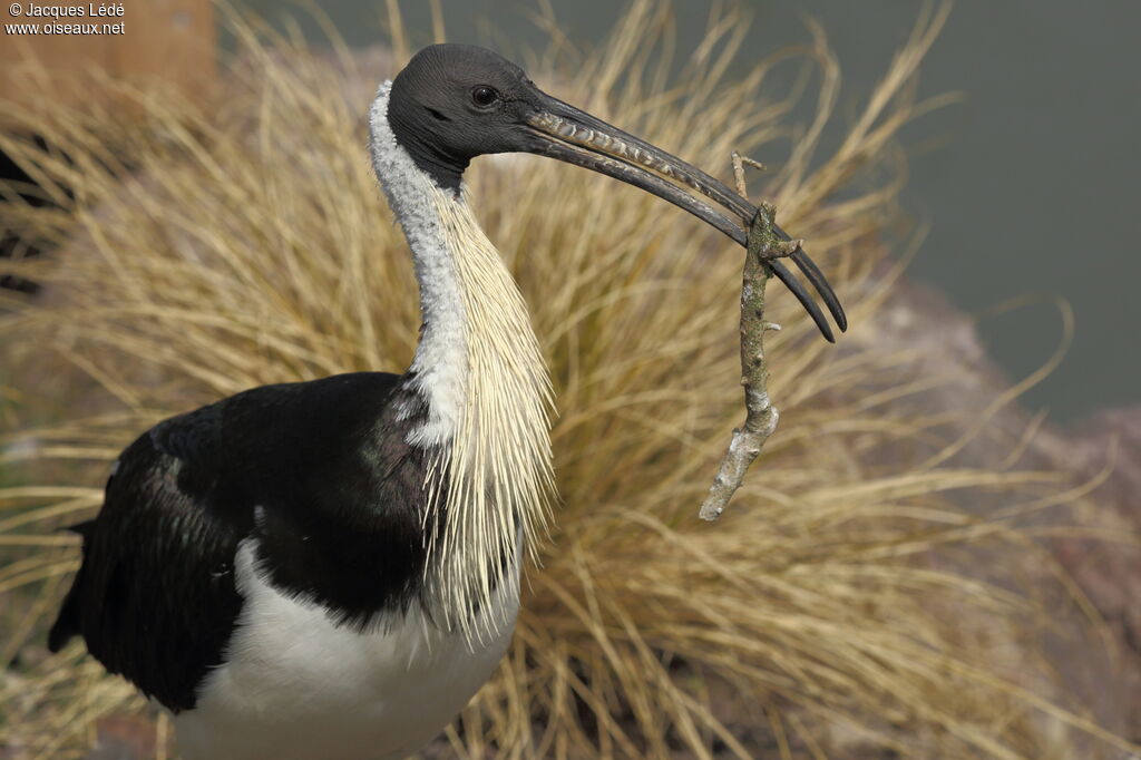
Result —
[[[733, 171], [742, 197], [747, 197], [745, 164], [763, 169], [762, 164], [734, 151]], [[741, 286], [741, 385], [745, 388], [745, 423], [733, 431], [729, 448], [698, 512], [703, 520], [721, 516], [780, 419], [769, 398], [769, 372], [764, 359], [764, 333], [779, 330], [780, 325], [764, 321], [764, 285], [772, 275], [768, 261], [788, 256], [801, 241], [782, 241], [774, 229], [775, 217], [776, 208], [762, 202], [748, 229]]]

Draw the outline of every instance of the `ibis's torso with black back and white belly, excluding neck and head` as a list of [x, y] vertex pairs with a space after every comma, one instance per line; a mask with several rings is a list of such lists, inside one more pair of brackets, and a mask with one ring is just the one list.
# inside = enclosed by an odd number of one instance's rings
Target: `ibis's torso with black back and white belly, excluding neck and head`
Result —
[[[507, 647], [520, 557], [470, 634], [432, 620], [416, 496], [428, 463], [391, 434], [404, 434], [391, 419], [400, 381], [258, 388], [141, 436], [84, 529], [86, 557], [102, 561], [84, 563], [52, 645], [81, 631], [108, 670], [176, 713], [188, 760], [399, 758], [430, 739]], [[362, 412], [380, 420], [375, 437], [351, 423]], [[322, 450], [331, 430], [341, 451]], [[338, 487], [323, 495], [329, 482]], [[371, 506], [418, 501], [354, 524]], [[235, 504], [253, 506], [226, 514]], [[294, 507], [317, 515], [299, 523]]]

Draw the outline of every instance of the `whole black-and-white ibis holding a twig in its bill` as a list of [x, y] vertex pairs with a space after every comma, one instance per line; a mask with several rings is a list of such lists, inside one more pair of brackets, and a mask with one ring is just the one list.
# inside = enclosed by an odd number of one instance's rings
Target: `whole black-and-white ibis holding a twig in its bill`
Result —
[[[755, 212], [480, 48], [419, 52], [381, 86], [370, 135], [420, 286], [408, 370], [265, 386], [164, 420], [76, 528], [83, 563], [49, 647], [81, 636], [175, 714], [188, 760], [404, 757], [507, 649], [553, 492], [552, 396], [524, 299], [463, 189], [472, 157], [584, 165], [742, 243], [739, 218], [663, 177]], [[798, 264], [843, 326], [823, 275]]]

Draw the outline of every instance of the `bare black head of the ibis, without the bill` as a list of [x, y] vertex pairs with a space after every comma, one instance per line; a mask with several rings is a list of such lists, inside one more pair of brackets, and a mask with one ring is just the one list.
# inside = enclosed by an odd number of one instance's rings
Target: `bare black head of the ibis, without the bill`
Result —
[[527, 119], [544, 97], [521, 68], [491, 50], [434, 45], [393, 81], [388, 120], [416, 165], [454, 191], [477, 155], [527, 149]]

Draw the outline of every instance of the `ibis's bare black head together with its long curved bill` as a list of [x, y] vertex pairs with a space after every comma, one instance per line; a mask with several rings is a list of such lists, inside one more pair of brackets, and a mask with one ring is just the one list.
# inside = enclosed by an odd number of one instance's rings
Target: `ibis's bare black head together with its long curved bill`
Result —
[[[519, 66], [485, 48], [434, 45], [420, 50], [393, 81], [388, 120], [416, 165], [453, 192], [478, 155], [534, 153], [654, 193], [742, 245], [756, 215], [755, 205], [720, 180], [543, 92]], [[802, 249], [791, 258], [840, 329], [847, 328], [843, 309], [816, 265]], [[803, 285], [779, 261], [770, 266], [832, 340], [828, 322]]]

